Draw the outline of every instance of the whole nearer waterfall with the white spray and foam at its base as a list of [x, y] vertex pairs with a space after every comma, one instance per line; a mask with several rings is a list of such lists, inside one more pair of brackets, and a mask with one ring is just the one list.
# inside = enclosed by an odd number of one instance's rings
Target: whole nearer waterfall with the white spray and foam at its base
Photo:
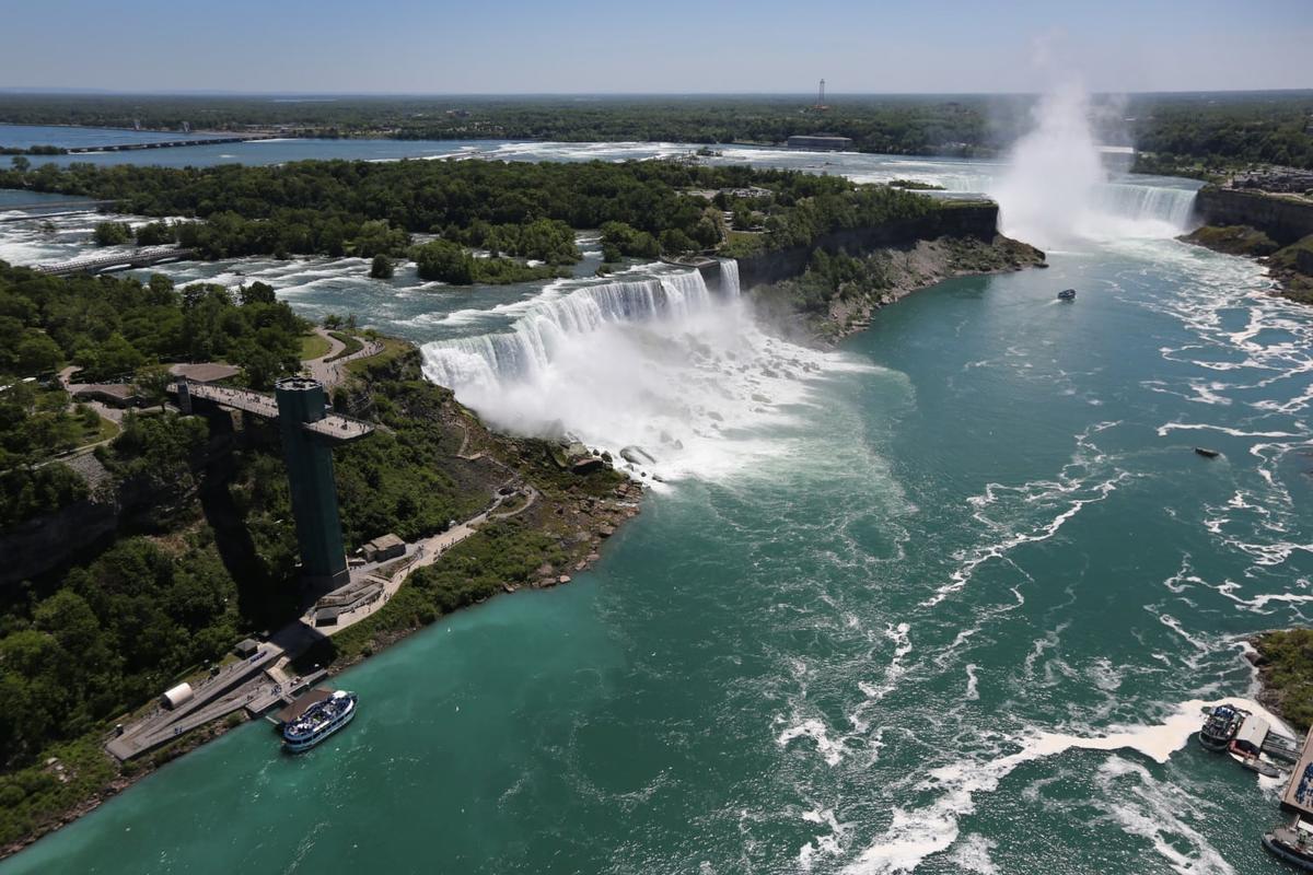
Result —
[[764, 335], [734, 261], [721, 262], [718, 291], [696, 270], [584, 286], [511, 331], [428, 344], [424, 359], [429, 379], [499, 428], [612, 453], [638, 446], [666, 479], [788, 453], [780, 425], [811, 380], [843, 366]]

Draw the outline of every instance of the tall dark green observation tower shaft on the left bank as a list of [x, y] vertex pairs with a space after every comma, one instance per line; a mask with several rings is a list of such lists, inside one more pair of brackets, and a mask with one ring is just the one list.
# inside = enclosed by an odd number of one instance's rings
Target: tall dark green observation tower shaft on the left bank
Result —
[[324, 387], [307, 376], [288, 376], [274, 384], [274, 395], [302, 575], [312, 586], [345, 584], [351, 576], [341, 543], [332, 453], [327, 443], [302, 428], [324, 417]]

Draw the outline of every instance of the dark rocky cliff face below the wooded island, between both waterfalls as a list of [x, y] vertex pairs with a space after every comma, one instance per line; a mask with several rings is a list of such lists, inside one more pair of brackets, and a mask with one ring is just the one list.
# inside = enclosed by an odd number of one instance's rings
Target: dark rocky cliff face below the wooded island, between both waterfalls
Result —
[[800, 275], [817, 249], [835, 253], [843, 249], [859, 254], [886, 247], [915, 244], [918, 240], [966, 237], [989, 241], [998, 234], [998, 205], [989, 201], [952, 203], [930, 215], [869, 228], [834, 231], [807, 247], [739, 258], [739, 281], [744, 289]]

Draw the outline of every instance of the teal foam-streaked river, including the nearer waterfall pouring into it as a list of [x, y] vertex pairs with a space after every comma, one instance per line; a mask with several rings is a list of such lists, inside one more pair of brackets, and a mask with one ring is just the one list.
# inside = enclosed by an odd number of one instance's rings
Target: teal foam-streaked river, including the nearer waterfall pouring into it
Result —
[[[352, 260], [168, 268], [353, 308], [492, 421], [639, 442], [666, 483], [572, 584], [340, 676], [361, 714], [312, 753], [244, 727], [0, 872], [1284, 871], [1276, 782], [1190, 733], [1253, 695], [1246, 635], [1309, 622], [1313, 311], [1171, 239], [1191, 197], [1102, 185], [1048, 270], [944, 282], [826, 353], [731, 268], [491, 298]], [[0, 226], [0, 257], [84, 239], [59, 222]]]

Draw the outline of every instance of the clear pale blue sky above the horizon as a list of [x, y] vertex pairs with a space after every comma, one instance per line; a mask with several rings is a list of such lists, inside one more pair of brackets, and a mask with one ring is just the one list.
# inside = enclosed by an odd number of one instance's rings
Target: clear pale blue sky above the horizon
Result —
[[35, 0], [0, 88], [605, 93], [1313, 88], [1313, 0]]

